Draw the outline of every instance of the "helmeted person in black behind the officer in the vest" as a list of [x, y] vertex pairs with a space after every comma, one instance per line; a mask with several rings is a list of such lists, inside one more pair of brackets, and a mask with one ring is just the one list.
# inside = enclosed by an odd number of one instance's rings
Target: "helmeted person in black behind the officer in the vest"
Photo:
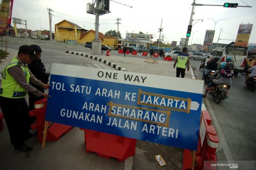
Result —
[[[49, 72], [46, 73], [44, 63], [41, 60], [42, 49], [38, 45], [31, 45], [30, 47], [34, 49], [36, 58], [30, 64], [28, 64], [28, 68], [32, 72], [35, 78], [40, 80], [42, 83], [47, 84], [49, 81], [50, 73]], [[29, 82], [29, 84], [31, 84], [33, 87], [35, 87], [36, 89], [44, 93], [43, 87], [37, 86], [31, 82]], [[38, 101], [44, 98], [43, 96], [36, 97], [33, 95], [33, 93], [29, 91], [28, 91], [28, 96], [29, 96], [29, 105], [28, 105], [29, 111], [34, 109], [35, 101]], [[34, 117], [31, 117], [31, 118], [32, 118], [31, 122], [33, 123]]]

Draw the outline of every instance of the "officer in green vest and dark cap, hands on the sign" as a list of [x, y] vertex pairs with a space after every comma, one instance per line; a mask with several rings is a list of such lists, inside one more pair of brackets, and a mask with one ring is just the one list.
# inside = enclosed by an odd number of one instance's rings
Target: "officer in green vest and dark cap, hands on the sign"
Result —
[[49, 84], [39, 81], [27, 64], [35, 58], [35, 51], [32, 47], [23, 45], [19, 47], [18, 55], [13, 57], [11, 62], [4, 68], [2, 86], [0, 88], [0, 107], [9, 130], [9, 136], [14, 149], [30, 152], [33, 149], [24, 143], [24, 140], [36, 135], [36, 132], [30, 133], [30, 122], [28, 114], [28, 105], [25, 100], [27, 91], [35, 96], [51, 97], [29, 84], [49, 88]]

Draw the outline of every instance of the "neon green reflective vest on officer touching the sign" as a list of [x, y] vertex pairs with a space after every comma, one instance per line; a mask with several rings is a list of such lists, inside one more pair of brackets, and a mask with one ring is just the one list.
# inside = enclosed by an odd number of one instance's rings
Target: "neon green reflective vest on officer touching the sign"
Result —
[[12, 61], [5, 67], [3, 71], [2, 87], [0, 88], [0, 96], [7, 98], [23, 98], [27, 95], [27, 90], [22, 88], [8, 73], [8, 69], [13, 66], [20, 66], [22, 72], [29, 83], [30, 73], [28, 71], [27, 64], [20, 63], [16, 57], [13, 57]]

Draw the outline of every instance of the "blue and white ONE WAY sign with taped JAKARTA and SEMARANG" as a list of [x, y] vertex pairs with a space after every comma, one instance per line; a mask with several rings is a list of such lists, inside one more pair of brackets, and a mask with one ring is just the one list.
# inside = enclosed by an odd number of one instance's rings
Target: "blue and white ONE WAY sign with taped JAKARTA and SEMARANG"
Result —
[[197, 150], [203, 81], [53, 63], [50, 84], [47, 121]]

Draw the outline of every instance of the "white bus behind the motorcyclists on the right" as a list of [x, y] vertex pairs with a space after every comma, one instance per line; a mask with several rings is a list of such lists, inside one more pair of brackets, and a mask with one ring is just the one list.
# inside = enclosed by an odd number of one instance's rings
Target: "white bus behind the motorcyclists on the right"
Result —
[[232, 58], [232, 63], [234, 63], [234, 74], [237, 75], [239, 72], [243, 72], [246, 58], [247, 58], [248, 48], [240, 46], [226, 46], [222, 48], [214, 48], [212, 50], [212, 56], [217, 56], [220, 62], [226, 62], [226, 57], [230, 56]]

